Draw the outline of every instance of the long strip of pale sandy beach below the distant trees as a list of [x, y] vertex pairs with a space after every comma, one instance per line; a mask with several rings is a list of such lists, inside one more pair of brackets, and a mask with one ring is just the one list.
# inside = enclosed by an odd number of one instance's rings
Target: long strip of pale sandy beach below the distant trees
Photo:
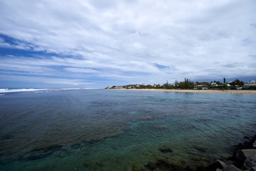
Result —
[[222, 94], [254, 94], [255, 90], [176, 90], [176, 89], [108, 89], [124, 91], [170, 91], [170, 92], [187, 92], [187, 93], [222, 93]]

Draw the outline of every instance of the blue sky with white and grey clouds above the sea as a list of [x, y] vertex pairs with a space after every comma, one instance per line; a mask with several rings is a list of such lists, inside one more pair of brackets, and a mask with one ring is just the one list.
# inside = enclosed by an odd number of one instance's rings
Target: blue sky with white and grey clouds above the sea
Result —
[[0, 0], [0, 87], [255, 77], [255, 9], [255, 0]]

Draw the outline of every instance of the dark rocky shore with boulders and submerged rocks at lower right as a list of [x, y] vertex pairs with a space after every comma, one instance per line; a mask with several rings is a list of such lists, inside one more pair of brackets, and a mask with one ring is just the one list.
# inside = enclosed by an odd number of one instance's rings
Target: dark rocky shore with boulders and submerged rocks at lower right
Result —
[[[253, 137], [244, 137], [248, 141], [239, 143], [234, 146], [233, 156], [230, 156], [226, 161], [216, 160], [214, 163], [204, 166], [197, 166], [195, 170], [187, 166], [182, 168], [173, 165], [166, 159], [159, 159], [156, 162], [149, 162], [144, 165], [145, 168], [133, 166], [132, 171], [147, 171], [147, 170], [175, 170], [175, 171], [256, 171], [256, 135]], [[168, 146], [159, 148], [163, 153], [172, 152]]]

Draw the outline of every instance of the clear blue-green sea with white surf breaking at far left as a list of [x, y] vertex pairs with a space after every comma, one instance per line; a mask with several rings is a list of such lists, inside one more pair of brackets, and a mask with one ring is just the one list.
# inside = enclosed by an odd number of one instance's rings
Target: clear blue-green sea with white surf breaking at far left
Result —
[[[0, 170], [195, 168], [256, 134], [255, 95], [0, 89]], [[167, 147], [168, 151], [160, 149]]]

